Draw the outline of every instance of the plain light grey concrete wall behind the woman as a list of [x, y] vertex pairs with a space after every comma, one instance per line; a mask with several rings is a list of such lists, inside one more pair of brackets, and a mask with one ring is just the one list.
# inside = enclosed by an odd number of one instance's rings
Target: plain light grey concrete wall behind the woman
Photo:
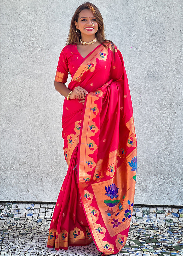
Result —
[[[135, 204], [182, 204], [181, 0], [92, 1], [121, 50], [138, 138]], [[1, 200], [56, 201], [67, 165], [53, 81], [83, 1], [1, 1]]]

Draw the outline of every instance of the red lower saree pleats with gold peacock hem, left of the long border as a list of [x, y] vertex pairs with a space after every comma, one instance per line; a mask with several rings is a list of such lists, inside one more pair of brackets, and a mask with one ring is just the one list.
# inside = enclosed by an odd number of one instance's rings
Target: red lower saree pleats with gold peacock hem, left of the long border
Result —
[[78, 191], [77, 154], [75, 148], [50, 225], [47, 247], [55, 247], [55, 250], [82, 246], [93, 241]]

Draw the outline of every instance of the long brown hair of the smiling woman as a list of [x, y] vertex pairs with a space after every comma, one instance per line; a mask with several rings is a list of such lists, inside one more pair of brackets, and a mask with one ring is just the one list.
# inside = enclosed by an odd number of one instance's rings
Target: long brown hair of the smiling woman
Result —
[[75, 20], [76, 20], [76, 22], [78, 22], [79, 13], [84, 9], [90, 10], [95, 17], [96, 22], [99, 24], [98, 31], [95, 34], [97, 40], [105, 47], [107, 47], [107, 46], [104, 44], [104, 42], [111, 42], [112, 49], [115, 52], [115, 47], [114, 47], [113, 42], [111, 40], [105, 39], [104, 21], [103, 21], [103, 18], [102, 18], [102, 15], [101, 15], [99, 9], [94, 4], [89, 3], [89, 2], [81, 4], [76, 9], [75, 14], [73, 15], [73, 17], [71, 19], [71, 26], [70, 26], [68, 38], [66, 41], [66, 45], [79, 43], [79, 41], [81, 39], [81, 32], [79, 30], [77, 30], [77, 32], [76, 32]]

